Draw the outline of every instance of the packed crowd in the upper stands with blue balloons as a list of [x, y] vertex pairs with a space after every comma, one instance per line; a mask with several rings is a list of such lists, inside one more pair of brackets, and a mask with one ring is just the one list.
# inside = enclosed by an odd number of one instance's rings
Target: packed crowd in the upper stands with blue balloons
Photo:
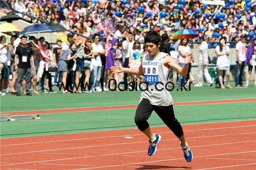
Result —
[[[97, 33], [125, 38], [127, 31], [149, 29], [161, 35], [167, 33], [169, 42], [178, 29], [193, 29], [208, 42], [238, 41], [242, 34], [250, 41], [256, 34], [256, 1], [225, 0], [225, 6], [202, 4], [202, 0], [6, 0], [12, 8], [51, 23], [60, 23], [87, 37]], [[28, 22], [41, 21], [18, 14]], [[198, 41], [194, 39], [191, 41]], [[209, 47], [216, 47], [210, 44]], [[233, 46], [234, 47], [234, 46]]]

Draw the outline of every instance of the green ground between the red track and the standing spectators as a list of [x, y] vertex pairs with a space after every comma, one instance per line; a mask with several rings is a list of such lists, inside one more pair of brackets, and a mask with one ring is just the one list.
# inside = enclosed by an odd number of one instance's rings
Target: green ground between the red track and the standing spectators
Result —
[[[234, 87], [234, 84], [232, 84]], [[249, 88], [216, 89], [191, 87], [191, 91], [171, 92], [175, 102], [246, 99], [256, 98], [253, 83]], [[57, 90], [57, 89], [55, 89]], [[0, 97], [1, 112], [28, 111], [59, 108], [77, 108], [91, 106], [137, 105], [141, 92], [101, 92], [92, 94], [40, 94], [33, 96]], [[222, 121], [256, 119], [256, 102], [207, 104], [194, 106], [174, 106], [174, 111], [182, 124], [209, 123]], [[106, 111], [80, 111], [67, 113], [39, 114], [41, 119], [16, 120], [0, 122], [1, 138], [67, 134], [111, 129], [137, 128], [134, 123], [136, 109], [119, 109]], [[164, 126], [161, 119], [152, 114], [151, 126]]]

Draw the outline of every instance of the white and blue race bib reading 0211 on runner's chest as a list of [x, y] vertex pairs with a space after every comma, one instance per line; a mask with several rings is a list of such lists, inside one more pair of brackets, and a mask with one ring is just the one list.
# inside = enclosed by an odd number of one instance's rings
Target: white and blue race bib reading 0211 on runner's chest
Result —
[[158, 61], [143, 60], [144, 82], [155, 84], [158, 82]]

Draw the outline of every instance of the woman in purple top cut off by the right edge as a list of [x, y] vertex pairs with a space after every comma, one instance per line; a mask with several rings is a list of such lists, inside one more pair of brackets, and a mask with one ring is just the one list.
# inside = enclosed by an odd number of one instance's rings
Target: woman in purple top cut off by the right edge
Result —
[[247, 48], [247, 51], [245, 53], [246, 57], [246, 64], [248, 64], [248, 74], [246, 76], [246, 83], [244, 85], [244, 88], [249, 87], [249, 80], [250, 80], [250, 74], [252, 71], [252, 68], [254, 66], [254, 72], [255, 72], [255, 77], [254, 77], [254, 87], [256, 87], [256, 36], [253, 37], [251, 41], [251, 45]]

